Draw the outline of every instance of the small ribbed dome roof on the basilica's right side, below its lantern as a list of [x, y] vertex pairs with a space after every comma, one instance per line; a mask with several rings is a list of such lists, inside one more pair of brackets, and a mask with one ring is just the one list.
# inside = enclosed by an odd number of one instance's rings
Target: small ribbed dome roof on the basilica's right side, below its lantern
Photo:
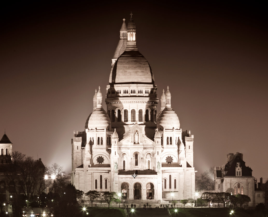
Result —
[[180, 121], [176, 112], [172, 108], [165, 108], [158, 116], [157, 128], [158, 129], [180, 129]]

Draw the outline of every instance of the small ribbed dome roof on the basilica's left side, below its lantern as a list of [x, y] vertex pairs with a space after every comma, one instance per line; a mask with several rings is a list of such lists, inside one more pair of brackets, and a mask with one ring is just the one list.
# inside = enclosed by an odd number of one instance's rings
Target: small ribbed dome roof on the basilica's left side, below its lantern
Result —
[[97, 130], [103, 130], [111, 129], [111, 121], [106, 113], [106, 111], [103, 108], [96, 108], [87, 118], [87, 121], [85, 122], [85, 128], [89, 130], [94, 130], [97, 128]]

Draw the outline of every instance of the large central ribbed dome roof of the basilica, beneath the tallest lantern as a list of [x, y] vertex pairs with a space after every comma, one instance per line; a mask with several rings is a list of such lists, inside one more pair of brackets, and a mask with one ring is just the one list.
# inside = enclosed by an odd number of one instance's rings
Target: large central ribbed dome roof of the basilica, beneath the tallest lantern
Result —
[[137, 50], [125, 50], [111, 69], [109, 83], [150, 83], [154, 74], [148, 61]]

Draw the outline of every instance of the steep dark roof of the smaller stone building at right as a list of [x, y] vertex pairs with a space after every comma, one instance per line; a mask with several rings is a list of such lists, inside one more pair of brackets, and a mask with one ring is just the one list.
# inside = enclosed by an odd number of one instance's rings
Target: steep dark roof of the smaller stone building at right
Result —
[[236, 176], [236, 163], [240, 163], [242, 169], [242, 176], [252, 176], [252, 169], [245, 165], [245, 161], [236, 154], [231, 161], [225, 165], [225, 176]]

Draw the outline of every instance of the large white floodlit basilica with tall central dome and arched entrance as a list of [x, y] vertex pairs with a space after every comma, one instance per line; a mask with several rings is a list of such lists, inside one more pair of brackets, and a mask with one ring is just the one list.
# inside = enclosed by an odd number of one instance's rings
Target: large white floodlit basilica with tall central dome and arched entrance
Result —
[[123, 21], [106, 87], [107, 112], [99, 87], [85, 131], [73, 134], [71, 181], [84, 192], [121, 192], [129, 200], [194, 198], [194, 137], [180, 128], [169, 87], [157, 112], [157, 86], [136, 47], [135, 23], [132, 17], [127, 26]]

